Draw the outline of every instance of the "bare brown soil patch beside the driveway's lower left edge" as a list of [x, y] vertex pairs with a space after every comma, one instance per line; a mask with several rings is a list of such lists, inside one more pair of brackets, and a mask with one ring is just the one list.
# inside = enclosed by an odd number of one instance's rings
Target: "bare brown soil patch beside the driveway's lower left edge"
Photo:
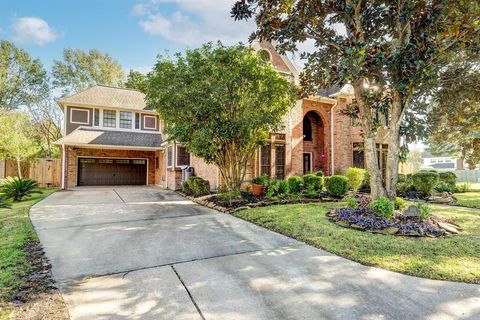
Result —
[[10, 319], [69, 319], [68, 310], [52, 278], [51, 265], [40, 243], [26, 248], [32, 270], [27, 281], [12, 297]]

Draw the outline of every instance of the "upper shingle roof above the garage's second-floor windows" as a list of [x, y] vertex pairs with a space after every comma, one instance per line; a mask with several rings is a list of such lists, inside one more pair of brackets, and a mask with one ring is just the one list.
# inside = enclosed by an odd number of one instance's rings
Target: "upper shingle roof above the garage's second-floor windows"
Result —
[[145, 110], [145, 94], [134, 89], [93, 86], [57, 101], [60, 105], [81, 104], [120, 109]]

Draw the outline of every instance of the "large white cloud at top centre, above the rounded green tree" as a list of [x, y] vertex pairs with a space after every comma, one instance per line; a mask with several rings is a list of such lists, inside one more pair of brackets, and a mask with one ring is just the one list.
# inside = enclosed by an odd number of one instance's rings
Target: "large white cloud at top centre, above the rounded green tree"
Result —
[[[255, 30], [253, 21], [234, 21], [230, 10], [234, 1], [218, 0], [147, 0], [137, 3], [133, 13], [141, 16], [140, 27], [184, 45], [199, 45], [221, 40], [225, 44], [246, 42]], [[141, 9], [139, 9], [141, 6]], [[167, 7], [174, 11], [167, 13]]]

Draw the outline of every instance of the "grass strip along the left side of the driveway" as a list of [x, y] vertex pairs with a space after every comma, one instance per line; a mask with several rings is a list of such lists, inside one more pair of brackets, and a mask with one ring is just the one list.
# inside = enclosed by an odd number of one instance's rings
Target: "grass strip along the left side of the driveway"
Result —
[[30, 272], [25, 247], [38, 241], [28, 211], [32, 205], [57, 189], [39, 189], [42, 193], [21, 202], [11, 209], [0, 209], [0, 302], [9, 301], [12, 294], [26, 281]]

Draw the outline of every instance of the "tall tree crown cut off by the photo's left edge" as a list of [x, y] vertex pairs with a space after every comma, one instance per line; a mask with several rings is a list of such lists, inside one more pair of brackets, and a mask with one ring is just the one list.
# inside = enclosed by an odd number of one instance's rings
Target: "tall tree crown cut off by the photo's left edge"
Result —
[[8, 41], [0, 41], [0, 111], [39, 101], [48, 92], [47, 73], [39, 59]]

